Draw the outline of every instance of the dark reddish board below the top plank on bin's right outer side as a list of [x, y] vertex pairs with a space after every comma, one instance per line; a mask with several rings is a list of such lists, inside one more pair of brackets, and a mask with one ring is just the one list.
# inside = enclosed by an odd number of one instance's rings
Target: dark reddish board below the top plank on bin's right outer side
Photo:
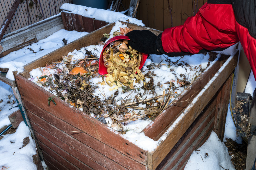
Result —
[[[156, 169], [172, 168], [215, 115], [216, 97], [204, 109]], [[213, 127], [213, 121], [212, 126]], [[196, 145], [197, 146], [197, 145]], [[193, 150], [191, 150], [193, 152]]]

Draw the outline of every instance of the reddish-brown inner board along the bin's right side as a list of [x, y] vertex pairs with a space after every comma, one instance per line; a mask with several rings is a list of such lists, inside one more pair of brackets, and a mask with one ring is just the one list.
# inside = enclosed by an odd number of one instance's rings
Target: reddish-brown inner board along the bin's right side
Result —
[[[226, 58], [226, 55], [223, 55], [222, 59], [223, 58]], [[192, 101], [197, 93], [199, 93], [213, 77], [217, 70], [219, 70], [220, 64], [221, 60], [215, 62], [207, 71], [203, 72], [198, 78], [196, 78], [189, 88], [183, 92], [181, 96], [175, 99], [172, 106], [167, 108], [164, 113], [158, 115], [153, 122], [143, 129], [145, 135], [151, 139], [158, 140], [164, 134], [166, 129], [171, 126], [172, 120], [175, 120], [175, 117], [189, 105], [187, 100], [189, 99], [189, 101]]]

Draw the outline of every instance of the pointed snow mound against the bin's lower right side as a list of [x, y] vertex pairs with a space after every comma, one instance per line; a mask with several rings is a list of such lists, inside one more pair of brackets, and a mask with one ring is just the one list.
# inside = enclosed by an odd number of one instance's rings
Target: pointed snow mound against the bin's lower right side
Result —
[[192, 153], [184, 170], [235, 170], [228, 148], [212, 131], [207, 141]]

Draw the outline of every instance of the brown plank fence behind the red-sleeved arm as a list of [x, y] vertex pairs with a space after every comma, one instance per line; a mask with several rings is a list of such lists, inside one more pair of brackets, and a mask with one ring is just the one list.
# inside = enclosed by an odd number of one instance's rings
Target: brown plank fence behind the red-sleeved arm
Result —
[[[123, 0], [123, 4], [127, 6], [126, 1], [129, 4], [130, 0]], [[164, 31], [171, 26], [183, 24], [206, 2], [207, 0], [140, 0], [136, 18], [150, 28]]]

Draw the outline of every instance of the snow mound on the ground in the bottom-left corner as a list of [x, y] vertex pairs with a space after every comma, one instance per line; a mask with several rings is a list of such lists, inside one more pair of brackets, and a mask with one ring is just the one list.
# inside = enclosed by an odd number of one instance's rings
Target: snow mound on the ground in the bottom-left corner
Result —
[[[29, 138], [29, 142], [25, 139], [26, 137]], [[24, 146], [24, 143], [27, 145]], [[32, 139], [30, 130], [24, 121], [20, 123], [15, 133], [4, 135], [4, 138], [0, 140], [0, 148], [1, 169], [36, 170], [36, 165], [33, 163], [32, 158], [36, 154], [36, 143]]]

